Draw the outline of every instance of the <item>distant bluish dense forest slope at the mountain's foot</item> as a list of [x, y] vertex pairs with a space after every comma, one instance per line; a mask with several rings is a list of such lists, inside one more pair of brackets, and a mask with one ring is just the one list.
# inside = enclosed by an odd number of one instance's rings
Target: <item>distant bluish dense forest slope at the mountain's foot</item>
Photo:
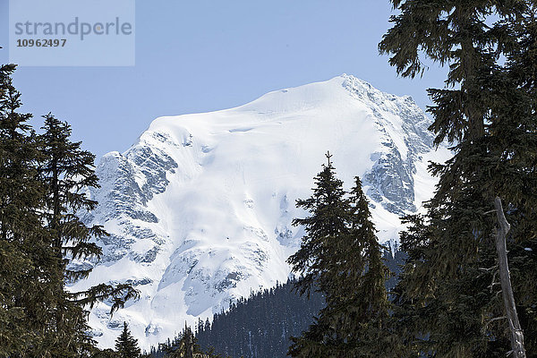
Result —
[[[396, 275], [405, 254], [396, 251], [395, 257], [386, 252], [388, 268], [394, 273], [387, 282], [388, 291], [395, 286]], [[316, 291], [311, 296], [297, 294], [295, 281], [252, 293], [233, 303], [228, 311], [214, 315], [211, 321], [199, 321], [195, 328], [197, 344], [204, 352], [244, 358], [285, 357], [290, 338], [299, 336], [324, 307], [324, 297]], [[176, 339], [178, 342], [179, 339]], [[167, 342], [162, 346], [173, 346]], [[166, 349], [153, 348], [150, 355], [164, 357]]]

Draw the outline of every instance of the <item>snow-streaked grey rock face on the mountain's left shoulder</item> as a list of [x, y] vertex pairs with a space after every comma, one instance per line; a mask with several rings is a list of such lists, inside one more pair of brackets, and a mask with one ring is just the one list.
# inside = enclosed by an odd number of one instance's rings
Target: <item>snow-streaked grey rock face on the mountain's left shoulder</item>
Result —
[[[151, 140], [166, 141], [166, 136], [154, 133]], [[115, 222], [119, 229], [100, 239], [99, 243], [106, 249], [101, 263], [113, 263], [125, 255], [144, 263], [157, 258], [165, 238], [141, 224], [158, 224], [157, 215], [147, 204], [155, 194], [166, 191], [169, 183], [166, 174], [174, 174], [175, 168], [174, 159], [148, 141], [141, 141], [124, 155], [111, 152], [101, 158], [96, 171], [101, 188], [90, 191], [92, 198], [98, 200], [98, 209], [83, 216], [86, 222]], [[154, 245], [144, 252], [130, 251], [132, 243], [139, 240]]]

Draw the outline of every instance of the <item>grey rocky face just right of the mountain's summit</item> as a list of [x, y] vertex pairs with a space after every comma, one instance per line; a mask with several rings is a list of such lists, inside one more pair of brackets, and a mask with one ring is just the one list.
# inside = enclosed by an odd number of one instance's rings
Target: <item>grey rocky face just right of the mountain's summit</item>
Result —
[[[382, 136], [384, 148], [371, 153], [375, 164], [364, 177], [364, 185], [370, 186], [367, 194], [394, 214], [414, 211], [415, 162], [430, 152], [434, 141], [427, 130], [430, 120], [411, 97], [383, 93], [354, 77], [347, 77], [343, 86], [371, 107], [373, 121]], [[390, 116], [401, 121], [390, 121]]]

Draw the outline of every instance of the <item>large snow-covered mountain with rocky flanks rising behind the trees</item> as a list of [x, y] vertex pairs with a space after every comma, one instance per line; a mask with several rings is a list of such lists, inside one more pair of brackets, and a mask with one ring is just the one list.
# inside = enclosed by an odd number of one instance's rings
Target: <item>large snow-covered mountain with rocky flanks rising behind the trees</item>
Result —
[[347, 185], [360, 175], [381, 242], [394, 243], [398, 217], [419, 209], [435, 181], [430, 120], [410, 97], [375, 90], [342, 75], [278, 90], [242, 107], [161, 117], [124, 154], [108, 153], [97, 169], [98, 208], [84, 215], [105, 226], [103, 259], [89, 279], [129, 282], [141, 300], [90, 314], [93, 333], [112, 346], [130, 323], [142, 347], [173, 337], [184, 322], [205, 320], [251, 290], [290, 273], [287, 257], [306, 215], [294, 201], [311, 194], [313, 176], [333, 155]]

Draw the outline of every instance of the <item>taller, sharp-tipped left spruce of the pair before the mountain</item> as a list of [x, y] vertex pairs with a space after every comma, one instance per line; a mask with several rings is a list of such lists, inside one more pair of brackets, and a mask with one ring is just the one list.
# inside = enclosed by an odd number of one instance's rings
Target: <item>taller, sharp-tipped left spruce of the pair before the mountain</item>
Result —
[[[301, 248], [287, 260], [294, 272], [301, 275], [295, 284], [297, 292], [309, 297], [311, 288], [318, 290], [325, 294], [327, 308], [320, 312], [320, 319], [303, 332], [302, 337], [291, 338], [293, 345], [289, 354], [294, 357], [331, 356], [330, 350], [343, 338], [337, 328], [330, 327], [328, 306], [336, 299], [332, 293], [336, 288], [333, 280], [337, 270], [331, 267], [337, 264], [337, 249], [342, 246], [337, 242], [348, 237], [350, 203], [345, 199], [343, 182], [337, 179], [329, 153], [327, 159], [328, 165], [323, 165], [322, 171], [315, 177], [316, 186], [311, 197], [296, 200], [296, 206], [308, 210], [311, 216], [294, 219], [293, 224], [303, 226], [306, 234]], [[323, 317], [323, 313], [327, 316]]]

